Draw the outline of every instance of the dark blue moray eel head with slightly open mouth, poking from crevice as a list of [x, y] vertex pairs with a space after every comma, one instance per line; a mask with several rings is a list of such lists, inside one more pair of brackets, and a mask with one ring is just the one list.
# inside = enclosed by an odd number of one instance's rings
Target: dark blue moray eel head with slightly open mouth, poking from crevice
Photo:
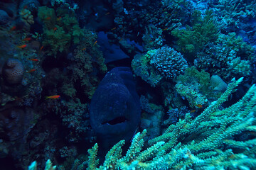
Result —
[[90, 103], [90, 124], [105, 149], [119, 140], [128, 142], [140, 121], [139, 96], [132, 70], [115, 67], [107, 72]]

